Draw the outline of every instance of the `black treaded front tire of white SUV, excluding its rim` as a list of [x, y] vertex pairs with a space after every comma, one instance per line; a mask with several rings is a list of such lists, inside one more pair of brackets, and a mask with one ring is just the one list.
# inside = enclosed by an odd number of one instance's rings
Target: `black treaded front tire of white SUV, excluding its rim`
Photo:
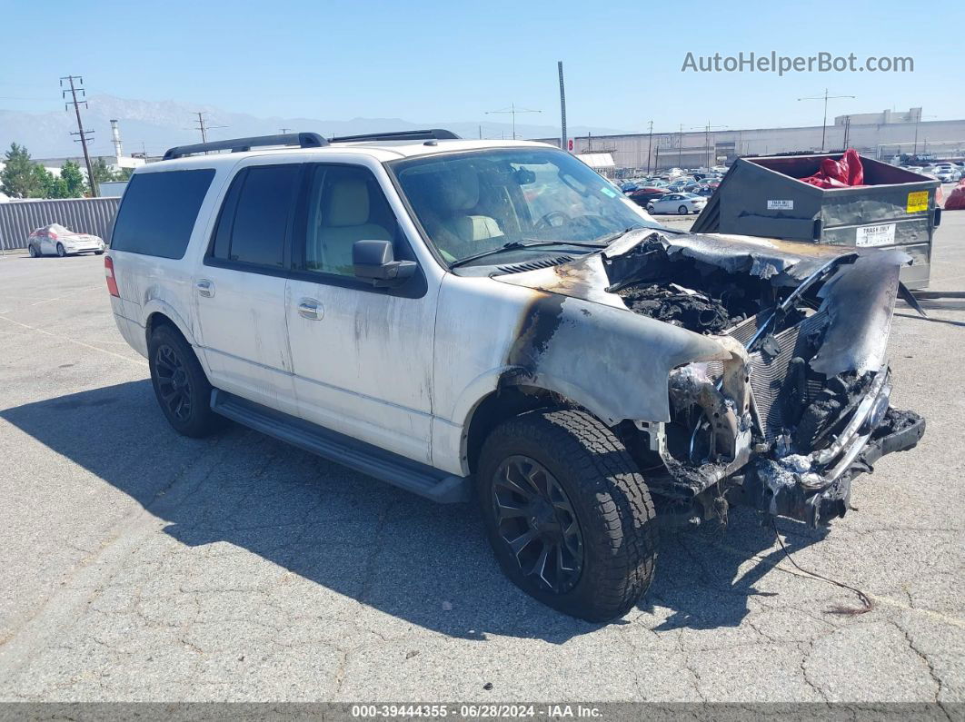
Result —
[[[575, 511], [583, 563], [568, 591], [553, 592], [524, 574], [500, 534], [494, 478], [505, 460], [518, 455], [553, 474]], [[502, 423], [483, 443], [476, 488], [503, 572], [539, 602], [590, 622], [608, 622], [626, 614], [647, 591], [656, 561], [653, 502], [623, 444], [592, 414], [537, 411]]]

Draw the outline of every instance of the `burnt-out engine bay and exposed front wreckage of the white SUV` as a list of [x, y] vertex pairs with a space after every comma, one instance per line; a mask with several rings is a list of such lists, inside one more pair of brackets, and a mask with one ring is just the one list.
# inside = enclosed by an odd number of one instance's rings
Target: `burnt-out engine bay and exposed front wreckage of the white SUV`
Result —
[[[627, 308], [715, 335], [732, 351], [730, 361], [686, 364], [671, 373], [672, 420], [663, 439], [650, 445], [667, 469], [670, 498], [712, 497], [689, 507], [678, 502], [678, 513], [719, 515], [730, 486], [762, 511], [826, 523], [846, 512], [852, 476], [871, 470], [882, 453], [921, 438], [923, 419], [889, 406], [883, 358], [880, 364], [822, 358], [834, 340], [828, 332], [845, 310], [835, 308], [830, 291], [849, 271], [869, 275], [860, 266], [875, 264], [839, 254], [812, 264], [802, 280], [755, 262], [735, 273], [738, 268], [698, 254], [674, 253], [659, 236], [639, 253], [646, 260], [635, 280], [610, 289]], [[887, 275], [876, 281], [887, 283]], [[865, 292], [875, 295], [872, 287]], [[850, 312], [860, 314], [860, 305]], [[887, 337], [890, 323], [889, 311], [873, 333]], [[722, 484], [738, 470], [738, 478]]]

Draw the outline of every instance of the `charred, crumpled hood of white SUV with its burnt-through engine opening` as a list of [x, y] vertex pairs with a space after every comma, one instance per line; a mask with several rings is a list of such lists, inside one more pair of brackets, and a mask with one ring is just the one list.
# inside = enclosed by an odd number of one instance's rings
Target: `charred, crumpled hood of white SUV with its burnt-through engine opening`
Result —
[[601, 253], [494, 278], [627, 309], [696, 334], [740, 329], [738, 337], [747, 336], [742, 341], [759, 334], [758, 347], [801, 320], [800, 305], [781, 308], [793, 294], [822, 319], [810, 365], [830, 377], [885, 362], [898, 274], [908, 262], [898, 251], [640, 229]]

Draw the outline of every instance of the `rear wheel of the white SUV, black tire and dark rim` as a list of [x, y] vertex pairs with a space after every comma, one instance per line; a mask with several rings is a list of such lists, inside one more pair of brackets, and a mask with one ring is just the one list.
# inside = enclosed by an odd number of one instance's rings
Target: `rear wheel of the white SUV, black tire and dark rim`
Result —
[[191, 345], [171, 326], [157, 327], [148, 344], [151, 383], [157, 403], [175, 431], [204, 437], [223, 419], [211, 411], [211, 385]]

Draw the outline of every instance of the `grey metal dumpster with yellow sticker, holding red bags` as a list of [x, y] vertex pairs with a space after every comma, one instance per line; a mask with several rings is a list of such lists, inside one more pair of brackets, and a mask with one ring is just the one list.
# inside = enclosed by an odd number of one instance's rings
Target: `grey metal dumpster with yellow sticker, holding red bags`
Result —
[[738, 158], [691, 230], [900, 248], [912, 257], [901, 281], [927, 286], [940, 182], [865, 156], [866, 185], [823, 189], [799, 180], [825, 158], [841, 160], [841, 153]]

